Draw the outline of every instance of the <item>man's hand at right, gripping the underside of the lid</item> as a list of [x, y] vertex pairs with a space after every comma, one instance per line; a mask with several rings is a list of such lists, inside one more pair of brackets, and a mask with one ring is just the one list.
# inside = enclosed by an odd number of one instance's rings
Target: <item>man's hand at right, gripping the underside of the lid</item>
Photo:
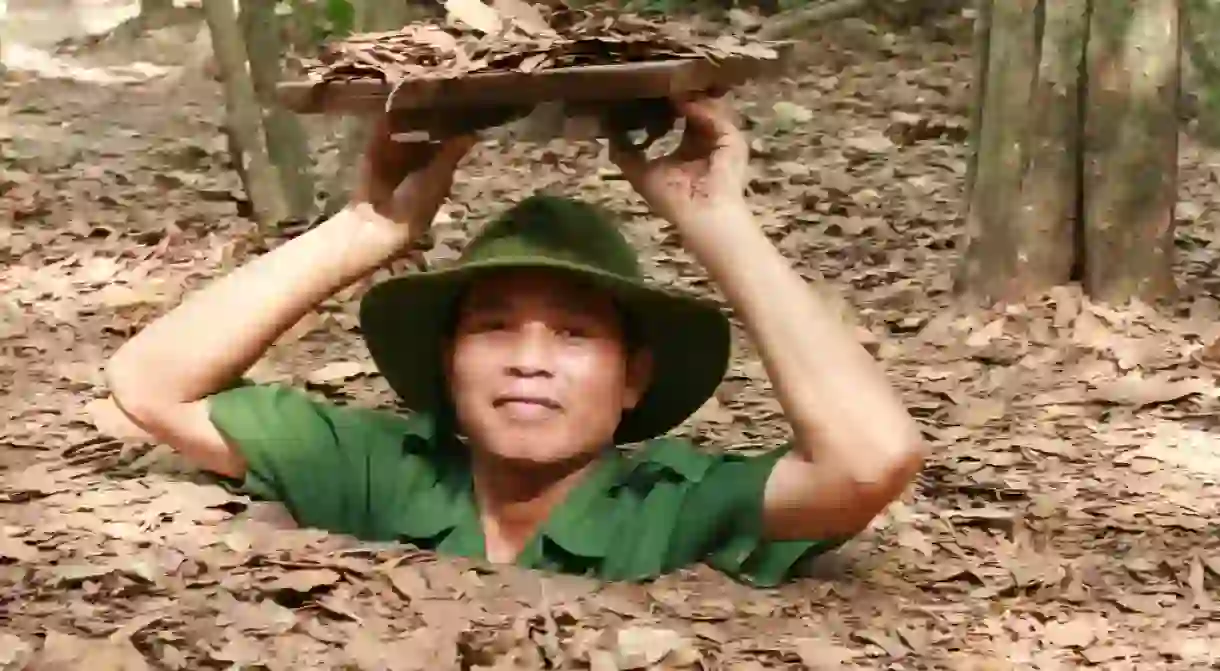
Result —
[[723, 98], [676, 100], [686, 118], [673, 152], [649, 160], [621, 138], [611, 139], [610, 160], [658, 215], [677, 226], [706, 221], [726, 209], [743, 211], [749, 145]]

